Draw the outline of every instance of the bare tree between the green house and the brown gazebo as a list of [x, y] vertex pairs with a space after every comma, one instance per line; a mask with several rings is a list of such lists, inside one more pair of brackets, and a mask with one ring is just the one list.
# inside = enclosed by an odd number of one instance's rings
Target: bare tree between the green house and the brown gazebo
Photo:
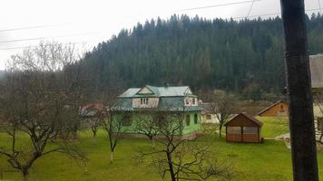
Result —
[[230, 119], [230, 116], [237, 110], [237, 99], [234, 95], [226, 91], [214, 90], [214, 93], [210, 94], [209, 100], [211, 100], [209, 111], [215, 114], [219, 120], [219, 137], [221, 137], [223, 124]]

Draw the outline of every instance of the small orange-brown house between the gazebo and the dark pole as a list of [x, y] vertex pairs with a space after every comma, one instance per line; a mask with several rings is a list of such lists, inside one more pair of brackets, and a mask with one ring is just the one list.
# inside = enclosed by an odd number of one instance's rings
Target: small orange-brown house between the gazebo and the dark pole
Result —
[[257, 116], [260, 117], [286, 117], [289, 116], [289, 104], [284, 100], [279, 100], [271, 104], [265, 110], [261, 110]]

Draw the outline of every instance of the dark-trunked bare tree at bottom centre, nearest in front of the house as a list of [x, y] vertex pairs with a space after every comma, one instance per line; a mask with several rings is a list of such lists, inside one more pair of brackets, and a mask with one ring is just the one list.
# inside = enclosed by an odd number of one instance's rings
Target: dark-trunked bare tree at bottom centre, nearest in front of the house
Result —
[[159, 137], [152, 151], [139, 151], [140, 163], [156, 167], [166, 179], [206, 180], [212, 176], [230, 180], [230, 167], [215, 159], [210, 145], [201, 146], [196, 141], [181, 138], [183, 126], [181, 113], [161, 113], [158, 121]]

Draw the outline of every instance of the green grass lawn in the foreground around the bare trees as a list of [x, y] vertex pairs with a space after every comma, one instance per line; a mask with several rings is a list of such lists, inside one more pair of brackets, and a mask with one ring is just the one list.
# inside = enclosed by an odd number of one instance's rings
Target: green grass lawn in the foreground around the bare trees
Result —
[[[25, 139], [25, 138], [23, 138]], [[7, 137], [0, 133], [0, 147], [8, 144]], [[233, 180], [291, 180], [290, 151], [281, 141], [265, 140], [263, 144], [226, 143], [224, 138], [209, 135], [198, 141], [212, 143], [211, 149], [233, 166]], [[122, 139], [115, 151], [113, 164], [109, 162], [109, 142], [103, 131], [93, 138], [90, 132], [82, 132], [78, 141], [88, 157], [87, 172], [79, 162], [62, 154], [40, 158], [30, 172], [30, 180], [162, 180], [153, 167], [138, 166], [134, 159], [137, 148], [151, 148], [148, 139]], [[5, 157], [0, 156], [0, 167], [12, 170]], [[318, 152], [318, 167], [323, 180], [323, 152]], [[22, 180], [17, 172], [5, 172], [5, 180]]]

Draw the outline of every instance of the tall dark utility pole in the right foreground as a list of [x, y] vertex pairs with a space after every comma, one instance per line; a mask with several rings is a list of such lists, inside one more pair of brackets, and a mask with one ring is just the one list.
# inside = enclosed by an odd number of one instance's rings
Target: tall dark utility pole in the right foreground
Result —
[[295, 181], [318, 181], [304, 0], [280, 0], [285, 33], [289, 129]]

